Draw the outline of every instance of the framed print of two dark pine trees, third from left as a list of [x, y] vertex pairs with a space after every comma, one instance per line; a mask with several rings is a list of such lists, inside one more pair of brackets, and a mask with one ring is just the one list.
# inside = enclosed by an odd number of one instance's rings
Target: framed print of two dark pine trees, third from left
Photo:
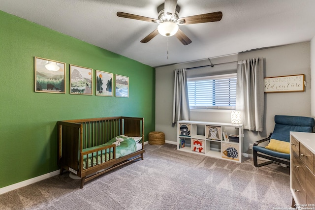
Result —
[[95, 70], [95, 95], [113, 96], [113, 74]]

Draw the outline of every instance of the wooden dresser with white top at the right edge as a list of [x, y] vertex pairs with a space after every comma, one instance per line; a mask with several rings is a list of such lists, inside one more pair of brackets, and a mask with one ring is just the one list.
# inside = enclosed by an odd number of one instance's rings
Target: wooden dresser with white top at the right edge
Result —
[[315, 209], [315, 133], [290, 132], [292, 207]]

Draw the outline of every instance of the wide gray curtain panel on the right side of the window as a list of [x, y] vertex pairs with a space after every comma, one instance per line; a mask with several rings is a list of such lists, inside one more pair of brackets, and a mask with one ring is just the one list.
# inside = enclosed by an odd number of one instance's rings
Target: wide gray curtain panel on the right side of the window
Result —
[[263, 58], [237, 62], [236, 110], [241, 111], [242, 123], [250, 131], [263, 130], [264, 73]]

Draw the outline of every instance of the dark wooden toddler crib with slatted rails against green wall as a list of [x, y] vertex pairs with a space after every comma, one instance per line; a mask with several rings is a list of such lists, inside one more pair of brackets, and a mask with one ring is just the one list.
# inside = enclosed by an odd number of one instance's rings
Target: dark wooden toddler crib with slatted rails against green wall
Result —
[[[143, 118], [63, 120], [58, 121], [58, 126], [60, 174], [65, 169], [80, 177], [80, 188], [86, 181], [110, 170], [140, 158], [143, 160]], [[136, 151], [116, 158], [116, 146], [103, 145], [119, 135], [142, 137], [142, 140]]]

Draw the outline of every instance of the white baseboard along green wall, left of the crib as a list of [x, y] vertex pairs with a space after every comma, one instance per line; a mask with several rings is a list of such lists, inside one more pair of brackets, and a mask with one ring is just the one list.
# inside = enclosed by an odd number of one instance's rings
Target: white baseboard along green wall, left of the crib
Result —
[[29, 179], [29, 180], [21, 181], [21, 182], [11, 184], [11, 185], [6, 186], [6, 187], [2, 187], [2, 188], [0, 188], [0, 195], [3, 193], [6, 193], [6, 192], [12, 191], [12, 190], [21, 188], [21, 187], [25, 187], [25, 186], [32, 184], [32, 183], [35, 183], [37, 181], [41, 181], [41, 180], [48, 179], [50, 177], [54, 177], [54, 176], [58, 175], [59, 173], [60, 173], [60, 170], [57, 170], [57, 171], [50, 172], [48, 174], [34, 177], [32, 179]]

